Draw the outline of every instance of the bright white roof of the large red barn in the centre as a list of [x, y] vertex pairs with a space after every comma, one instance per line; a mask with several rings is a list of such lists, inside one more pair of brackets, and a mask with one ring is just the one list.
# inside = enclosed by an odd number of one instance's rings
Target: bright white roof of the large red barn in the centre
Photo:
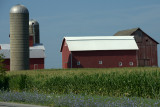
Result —
[[69, 51], [138, 50], [133, 36], [64, 37]]

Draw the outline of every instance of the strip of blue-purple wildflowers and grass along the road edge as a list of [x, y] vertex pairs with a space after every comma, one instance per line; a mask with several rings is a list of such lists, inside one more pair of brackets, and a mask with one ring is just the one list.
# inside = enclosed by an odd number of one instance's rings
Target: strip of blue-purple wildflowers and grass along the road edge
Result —
[[39, 94], [37, 92], [2, 92], [0, 101], [19, 102], [53, 107], [159, 107], [159, 99], [139, 97], [108, 97], [77, 94]]

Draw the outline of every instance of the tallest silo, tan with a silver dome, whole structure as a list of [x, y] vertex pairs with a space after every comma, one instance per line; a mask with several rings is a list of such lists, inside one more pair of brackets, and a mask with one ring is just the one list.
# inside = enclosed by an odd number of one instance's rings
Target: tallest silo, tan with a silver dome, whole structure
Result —
[[10, 70], [29, 69], [29, 11], [23, 5], [10, 9]]

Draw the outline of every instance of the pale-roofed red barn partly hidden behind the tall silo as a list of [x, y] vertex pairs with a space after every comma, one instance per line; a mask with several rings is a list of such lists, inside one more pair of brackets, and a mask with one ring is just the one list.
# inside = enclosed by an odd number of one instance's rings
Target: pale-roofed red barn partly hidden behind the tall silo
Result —
[[[30, 69], [44, 69], [45, 48], [43, 44], [30, 46]], [[7, 70], [10, 70], [10, 44], [0, 44], [0, 54], [4, 55]]]

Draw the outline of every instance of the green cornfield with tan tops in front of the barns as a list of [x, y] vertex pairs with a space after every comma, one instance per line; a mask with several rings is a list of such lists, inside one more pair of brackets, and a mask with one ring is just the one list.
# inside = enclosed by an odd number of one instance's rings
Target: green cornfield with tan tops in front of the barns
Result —
[[50, 69], [8, 72], [1, 90], [116, 97], [160, 97], [160, 68]]

